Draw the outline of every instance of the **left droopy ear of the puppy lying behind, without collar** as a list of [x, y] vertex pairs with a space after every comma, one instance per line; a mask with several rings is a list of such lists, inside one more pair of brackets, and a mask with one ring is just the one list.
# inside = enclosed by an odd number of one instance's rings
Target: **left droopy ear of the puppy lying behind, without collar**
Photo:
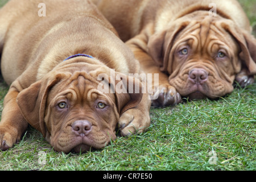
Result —
[[188, 20], [177, 20], [170, 24], [166, 30], [157, 32], [150, 37], [147, 44], [148, 53], [155, 63], [159, 65], [161, 71], [171, 72], [171, 60], [169, 60], [171, 47], [177, 34], [187, 27], [189, 23]]

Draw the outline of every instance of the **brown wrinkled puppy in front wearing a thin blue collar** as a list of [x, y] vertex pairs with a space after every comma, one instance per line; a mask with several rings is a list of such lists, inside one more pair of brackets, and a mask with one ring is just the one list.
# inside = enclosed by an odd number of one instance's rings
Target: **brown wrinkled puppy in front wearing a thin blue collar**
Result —
[[150, 124], [142, 82], [127, 76], [141, 73], [139, 63], [89, 1], [9, 1], [0, 10], [0, 51], [11, 84], [0, 122], [2, 150], [28, 123], [64, 152], [102, 148], [116, 138], [116, 127], [130, 135]]

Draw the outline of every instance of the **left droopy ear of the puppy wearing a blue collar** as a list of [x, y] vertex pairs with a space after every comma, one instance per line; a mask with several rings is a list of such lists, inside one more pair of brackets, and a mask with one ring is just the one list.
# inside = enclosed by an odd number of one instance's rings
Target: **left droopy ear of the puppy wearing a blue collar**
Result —
[[46, 109], [47, 95], [52, 86], [59, 82], [60, 79], [61, 74], [35, 82], [22, 90], [16, 99], [23, 117], [32, 127], [39, 130], [43, 137], [46, 137], [44, 111]]

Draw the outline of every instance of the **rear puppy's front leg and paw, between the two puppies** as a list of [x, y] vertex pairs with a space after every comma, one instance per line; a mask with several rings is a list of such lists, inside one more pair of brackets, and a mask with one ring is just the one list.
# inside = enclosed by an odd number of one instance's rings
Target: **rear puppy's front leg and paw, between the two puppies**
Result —
[[[142, 70], [152, 74], [152, 80], [147, 84], [152, 84], [151, 94], [152, 106], [169, 106], [181, 102], [181, 96], [176, 89], [168, 82], [168, 75], [161, 72], [158, 65], [146, 52], [146, 42], [143, 36], [139, 35], [126, 42], [127, 46], [133, 51], [135, 58], [139, 60]], [[154, 80], [154, 75], [158, 75], [158, 80]], [[149, 80], [147, 80], [149, 81]]]

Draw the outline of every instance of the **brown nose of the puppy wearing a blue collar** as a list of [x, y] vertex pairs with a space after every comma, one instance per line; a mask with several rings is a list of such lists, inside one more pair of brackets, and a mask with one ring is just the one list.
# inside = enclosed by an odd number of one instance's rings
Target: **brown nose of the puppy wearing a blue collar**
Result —
[[76, 135], [88, 135], [92, 129], [92, 124], [87, 120], [77, 120], [73, 122], [72, 129]]

